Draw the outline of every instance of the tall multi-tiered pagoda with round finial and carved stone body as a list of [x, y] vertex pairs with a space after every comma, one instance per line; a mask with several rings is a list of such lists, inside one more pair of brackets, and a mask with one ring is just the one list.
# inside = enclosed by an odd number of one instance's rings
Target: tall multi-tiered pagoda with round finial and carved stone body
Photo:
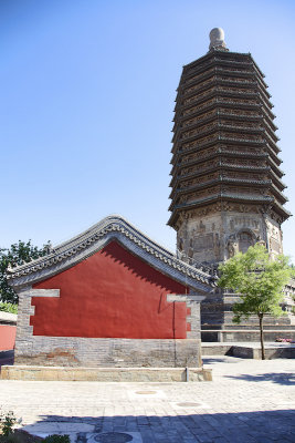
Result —
[[[183, 66], [168, 225], [179, 257], [193, 266], [217, 270], [257, 241], [273, 257], [283, 253], [281, 225], [291, 214], [270, 99], [252, 55], [229, 51], [220, 28], [210, 32], [209, 52]], [[207, 299], [203, 326], [224, 327], [226, 311], [230, 322], [228, 301], [224, 293]]]

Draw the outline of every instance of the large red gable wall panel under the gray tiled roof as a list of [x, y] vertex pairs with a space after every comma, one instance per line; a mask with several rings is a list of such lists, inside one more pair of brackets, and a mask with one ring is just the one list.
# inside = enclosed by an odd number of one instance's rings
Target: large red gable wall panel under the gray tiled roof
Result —
[[32, 298], [34, 336], [187, 337], [186, 302], [168, 303], [166, 299], [167, 293], [186, 293], [185, 286], [116, 241], [34, 288], [61, 289], [60, 298]]

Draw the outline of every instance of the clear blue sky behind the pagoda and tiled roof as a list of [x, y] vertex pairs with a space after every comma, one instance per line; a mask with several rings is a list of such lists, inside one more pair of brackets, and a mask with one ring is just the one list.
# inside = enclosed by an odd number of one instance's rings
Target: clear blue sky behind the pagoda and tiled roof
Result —
[[[0, 246], [53, 245], [120, 214], [175, 250], [173, 101], [183, 64], [225, 31], [268, 84], [295, 214], [295, 2], [0, 1]], [[283, 225], [295, 261], [295, 222]]]

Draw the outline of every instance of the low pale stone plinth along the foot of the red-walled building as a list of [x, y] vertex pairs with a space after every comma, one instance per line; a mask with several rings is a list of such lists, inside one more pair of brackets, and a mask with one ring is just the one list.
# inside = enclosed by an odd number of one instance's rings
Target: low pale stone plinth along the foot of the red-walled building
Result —
[[1, 380], [101, 381], [101, 382], [197, 382], [212, 381], [203, 368], [64, 368], [3, 365]]

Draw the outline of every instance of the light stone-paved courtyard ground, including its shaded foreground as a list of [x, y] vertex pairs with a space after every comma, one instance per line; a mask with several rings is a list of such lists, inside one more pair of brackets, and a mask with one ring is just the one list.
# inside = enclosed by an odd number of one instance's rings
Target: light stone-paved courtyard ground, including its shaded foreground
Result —
[[0, 406], [77, 443], [295, 442], [295, 360], [207, 357], [213, 382], [0, 381]]

